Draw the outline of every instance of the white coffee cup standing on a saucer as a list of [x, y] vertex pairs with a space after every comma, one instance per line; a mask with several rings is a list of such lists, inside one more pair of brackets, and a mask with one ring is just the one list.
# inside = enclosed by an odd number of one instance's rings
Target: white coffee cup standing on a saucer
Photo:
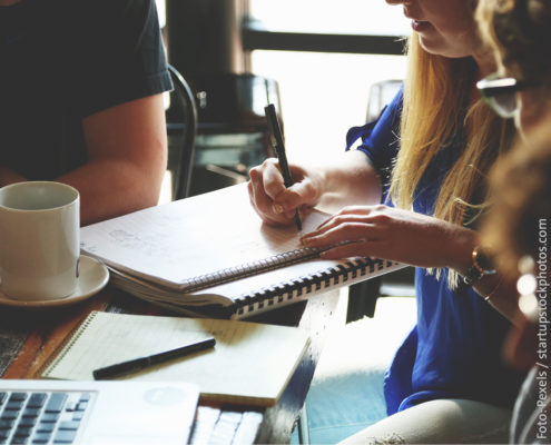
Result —
[[80, 197], [60, 182], [0, 189], [0, 289], [13, 299], [63, 298], [77, 287]]

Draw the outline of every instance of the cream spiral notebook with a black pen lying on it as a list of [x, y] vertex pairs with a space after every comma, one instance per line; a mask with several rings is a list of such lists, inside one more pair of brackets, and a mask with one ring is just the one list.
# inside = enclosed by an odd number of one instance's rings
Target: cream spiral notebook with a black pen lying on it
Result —
[[122, 380], [187, 382], [203, 400], [274, 405], [309, 345], [296, 327], [91, 312], [46, 363], [42, 378], [91, 380], [94, 369], [215, 337], [216, 346]]

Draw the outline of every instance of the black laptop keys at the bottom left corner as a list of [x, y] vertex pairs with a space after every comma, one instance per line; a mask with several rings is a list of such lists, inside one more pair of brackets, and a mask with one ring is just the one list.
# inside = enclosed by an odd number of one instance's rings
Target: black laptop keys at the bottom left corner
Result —
[[91, 393], [0, 392], [0, 445], [72, 444]]

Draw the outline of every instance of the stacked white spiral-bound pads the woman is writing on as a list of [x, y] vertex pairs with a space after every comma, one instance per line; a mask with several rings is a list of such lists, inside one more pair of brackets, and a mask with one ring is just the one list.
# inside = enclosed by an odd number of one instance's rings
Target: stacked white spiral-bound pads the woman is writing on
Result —
[[174, 201], [81, 229], [81, 249], [121, 289], [187, 315], [243, 318], [403, 267], [371, 258], [325, 260], [301, 245], [328, 217], [264, 224], [245, 185]]

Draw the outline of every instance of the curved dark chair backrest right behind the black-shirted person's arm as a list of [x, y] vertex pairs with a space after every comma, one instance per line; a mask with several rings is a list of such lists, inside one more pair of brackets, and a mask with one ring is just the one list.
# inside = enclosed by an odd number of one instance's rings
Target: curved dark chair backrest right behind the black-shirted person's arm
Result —
[[173, 175], [173, 199], [187, 198], [194, 168], [197, 106], [184, 77], [171, 65], [168, 71], [174, 83], [167, 110], [168, 169]]

